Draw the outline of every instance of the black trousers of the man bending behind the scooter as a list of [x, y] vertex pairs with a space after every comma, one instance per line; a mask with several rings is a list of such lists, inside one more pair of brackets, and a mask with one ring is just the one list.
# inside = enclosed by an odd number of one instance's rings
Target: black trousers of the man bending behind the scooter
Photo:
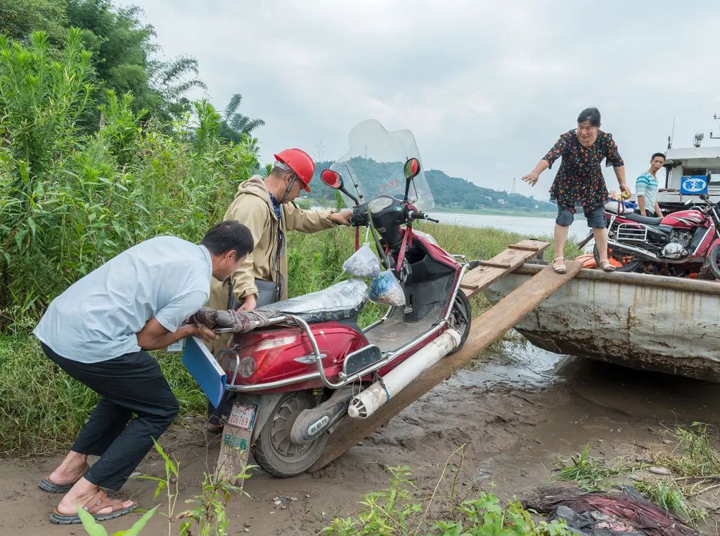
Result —
[[153, 437], [158, 440], [178, 414], [178, 401], [160, 365], [143, 350], [98, 363], [63, 358], [44, 344], [42, 350], [100, 395], [72, 450], [100, 456], [85, 478], [117, 491], [153, 447]]

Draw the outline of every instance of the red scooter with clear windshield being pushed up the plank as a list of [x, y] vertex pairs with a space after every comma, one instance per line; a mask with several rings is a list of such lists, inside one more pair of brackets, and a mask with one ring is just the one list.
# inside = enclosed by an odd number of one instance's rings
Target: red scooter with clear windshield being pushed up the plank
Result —
[[[253, 458], [274, 476], [307, 471], [330, 434], [343, 433], [348, 419], [369, 417], [469, 333], [470, 305], [459, 289], [464, 257], [413, 230], [414, 221], [429, 219], [422, 208], [432, 206], [413, 135], [368, 121], [350, 141], [350, 153], [322, 180], [354, 200], [352, 224], [370, 227], [405, 304], [361, 328], [367, 285], [350, 279], [266, 307], [275, 315], [269, 327], [231, 340], [220, 363], [242, 407], [233, 419], [251, 430]], [[378, 193], [369, 202], [365, 185]]]

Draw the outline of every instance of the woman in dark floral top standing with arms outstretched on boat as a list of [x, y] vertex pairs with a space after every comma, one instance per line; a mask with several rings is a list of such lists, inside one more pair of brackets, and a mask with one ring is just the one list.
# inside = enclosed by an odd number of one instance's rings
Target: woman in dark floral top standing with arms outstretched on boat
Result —
[[605, 228], [608, 188], [600, 168], [603, 158], [606, 165], [613, 166], [621, 191], [629, 192], [629, 189], [625, 182], [625, 163], [612, 135], [600, 130], [600, 112], [597, 108], [582, 110], [577, 117], [577, 128], [561, 135], [534, 170], [523, 177], [523, 181], [535, 186], [540, 173], [551, 168], [561, 156], [560, 169], [550, 187], [550, 199], [557, 201], [555, 259], [552, 266], [557, 273], [567, 271], [562, 250], [573, 214], [577, 207], [581, 207], [588, 219], [588, 227], [593, 229], [595, 235], [600, 268], [613, 271], [615, 268], [608, 261], [608, 232]]

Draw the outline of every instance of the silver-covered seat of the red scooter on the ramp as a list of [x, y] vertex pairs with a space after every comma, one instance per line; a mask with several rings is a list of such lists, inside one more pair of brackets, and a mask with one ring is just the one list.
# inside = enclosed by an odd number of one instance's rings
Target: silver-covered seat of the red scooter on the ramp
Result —
[[356, 317], [367, 302], [367, 285], [360, 279], [341, 281], [327, 289], [276, 301], [264, 306], [265, 311], [294, 314], [309, 324]]

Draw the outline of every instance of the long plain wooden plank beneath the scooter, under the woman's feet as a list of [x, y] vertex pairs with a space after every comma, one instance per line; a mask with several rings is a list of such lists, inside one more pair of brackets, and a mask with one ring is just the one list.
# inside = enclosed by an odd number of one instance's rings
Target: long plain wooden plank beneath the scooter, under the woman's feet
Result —
[[[581, 265], [575, 260], [568, 260], [565, 264], [567, 265], [567, 273], [555, 273], [552, 266], [547, 266], [508, 294], [508, 296], [498, 301], [495, 306], [481, 314], [480, 317], [473, 319], [470, 334], [465, 345], [460, 350], [448, 355], [420, 374], [418, 378], [413, 380], [413, 383], [410, 383], [408, 387], [390, 399], [387, 404], [380, 407], [369, 419], [346, 419], [342, 430], [338, 430], [330, 436], [330, 442], [328, 442], [325, 452], [312, 465], [310, 471], [318, 471], [318, 469], [325, 467], [338, 456], [346, 453], [358, 441], [372, 434], [374, 430], [382, 425], [387, 424], [402, 409], [405, 409], [420, 396], [426, 394], [438, 383], [465, 365], [480, 353], [480, 350], [502, 337], [518, 320], [535, 309], [536, 306], [567, 281], [570, 281], [580, 271]], [[491, 269], [497, 270], [498, 268]]]

